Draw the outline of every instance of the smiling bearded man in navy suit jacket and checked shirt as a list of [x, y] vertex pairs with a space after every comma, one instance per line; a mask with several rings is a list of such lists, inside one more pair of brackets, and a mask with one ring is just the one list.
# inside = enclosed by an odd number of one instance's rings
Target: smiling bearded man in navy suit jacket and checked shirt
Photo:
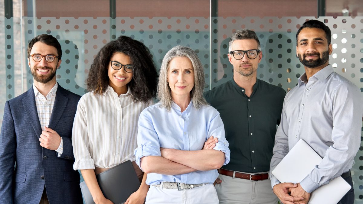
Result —
[[5, 103], [0, 134], [0, 203], [80, 204], [72, 125], [80, 98], [56, 81], [61, 45], [41, 34], [28, 45], [33, 86]]

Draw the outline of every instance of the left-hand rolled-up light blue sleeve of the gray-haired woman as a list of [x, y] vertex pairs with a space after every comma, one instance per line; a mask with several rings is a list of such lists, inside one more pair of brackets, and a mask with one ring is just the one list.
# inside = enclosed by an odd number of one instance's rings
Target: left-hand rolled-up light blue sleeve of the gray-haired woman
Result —
[[138, 147], [135, 150], [136, 164], [141, 168], [141, 158], [144, 156], [161, 156], [158, 134], [154, 129], [152, 119], [147, 111], [140, 114], [138, 122]]

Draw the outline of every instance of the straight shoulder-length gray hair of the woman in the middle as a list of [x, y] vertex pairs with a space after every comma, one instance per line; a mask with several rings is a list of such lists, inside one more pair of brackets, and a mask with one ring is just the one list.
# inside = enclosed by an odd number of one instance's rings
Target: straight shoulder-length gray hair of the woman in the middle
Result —
[[191, 100], [193, 106], [199, 109], [203, 105], [208, 105], [203, 97], [204, 89], [204, 70], [197, 54], [190, 48], [184, 46], [175, 46], [163, 58], [159, 73], [158, 91], [156, 97], [160, 100], [161, 106], [167, 110], [171, 110], [172, 98], [171, 90], [167, 83], [169, 64], [175, 57], [187, 57], [193, 65], [194, 69], [194, 86], [191, 90]]

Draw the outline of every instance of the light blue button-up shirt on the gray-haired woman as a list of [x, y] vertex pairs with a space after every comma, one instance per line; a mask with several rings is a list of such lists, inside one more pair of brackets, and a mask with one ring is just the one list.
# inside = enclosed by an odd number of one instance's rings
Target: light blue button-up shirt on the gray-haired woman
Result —
[[[196, 109], [190, 102], [181, 113], [180, 107], [174, 102], [167, 111], [160, 103], [147, 107], [139, 118], [138, 148], [135, 150], [136, 163], [144, 156], [161, 156], [160, 147], [176, 150], [201, 150], [210, 136], [218, 138], [215, 150], [224, 152], [224, 164], [229, 162], [229, 144], [224, 135], [224, 126], [219, 112], [212, 106]], [[188, 174], [147, 175], [148, 185], [163, 182], [179, 182], [186, 184], [213, 183], [218, 176], [217, 170], [195, 171]]]

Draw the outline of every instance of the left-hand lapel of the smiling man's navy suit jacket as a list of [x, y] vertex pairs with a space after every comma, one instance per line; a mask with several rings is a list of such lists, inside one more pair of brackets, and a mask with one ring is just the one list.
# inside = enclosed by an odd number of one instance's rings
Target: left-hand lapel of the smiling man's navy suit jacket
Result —
[[40, 138], [42, 128], [40, 127], [37, 105], [35, 104], [33, 86], [26, 92], [26, 97], [23, 98], [23, 107], [35, 134]]

